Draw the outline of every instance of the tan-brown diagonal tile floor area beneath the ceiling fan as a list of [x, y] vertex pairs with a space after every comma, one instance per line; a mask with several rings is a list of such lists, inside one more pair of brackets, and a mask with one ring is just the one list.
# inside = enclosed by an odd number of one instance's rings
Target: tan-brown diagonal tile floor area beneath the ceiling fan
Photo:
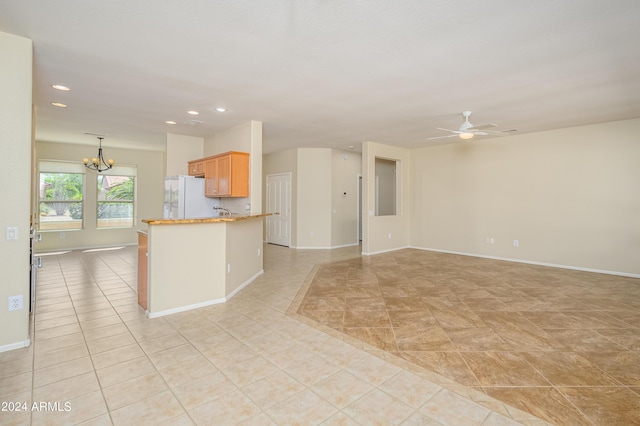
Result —
[[407, 249], [320, 265], [301, 294], [334, 334], [551, 423], [640, 424], [636, 278]]

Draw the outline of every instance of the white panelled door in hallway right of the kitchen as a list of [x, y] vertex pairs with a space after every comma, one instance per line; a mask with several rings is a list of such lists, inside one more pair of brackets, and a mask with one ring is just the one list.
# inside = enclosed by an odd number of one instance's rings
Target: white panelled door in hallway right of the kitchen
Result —
[[267, 175], [267, 243], [291, 245], [291, 173]]

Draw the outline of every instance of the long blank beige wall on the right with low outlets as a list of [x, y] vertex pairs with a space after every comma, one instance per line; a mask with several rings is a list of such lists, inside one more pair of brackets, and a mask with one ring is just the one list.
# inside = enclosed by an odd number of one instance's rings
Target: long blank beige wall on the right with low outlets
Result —
[[640, 274], [639, 134], [636, 119], [413, 150], [411, 245]]

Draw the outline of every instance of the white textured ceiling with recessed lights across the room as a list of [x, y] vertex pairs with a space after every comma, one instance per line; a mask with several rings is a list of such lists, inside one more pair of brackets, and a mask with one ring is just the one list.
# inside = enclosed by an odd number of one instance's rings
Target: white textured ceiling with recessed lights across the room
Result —
[[258, 120], [264, 152], [449, 143], [427, 138], [464, 110], [519, 133], [640, 117], [639, 16], [637, 0], [0, 0], [0, 31], [34, 42], [38, 140], [163, 149]]

